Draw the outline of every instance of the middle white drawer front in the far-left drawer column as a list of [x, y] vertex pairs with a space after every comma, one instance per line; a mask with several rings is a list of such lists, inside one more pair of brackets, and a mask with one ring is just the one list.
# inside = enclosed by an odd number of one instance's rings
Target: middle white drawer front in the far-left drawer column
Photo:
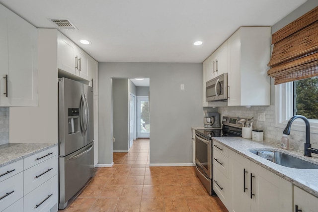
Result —
[[0, 211], [23, 197], [23, 173], [0, 182]]

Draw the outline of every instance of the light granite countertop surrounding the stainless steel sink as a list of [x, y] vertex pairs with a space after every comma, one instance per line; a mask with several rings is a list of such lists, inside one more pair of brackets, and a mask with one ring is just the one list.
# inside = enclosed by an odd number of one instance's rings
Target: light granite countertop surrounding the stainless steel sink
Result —
[[239, 155], [291, 182], [295, 186], [302, 188], [315, 197], [318, 197], [318, 169], [296, 169], [281, 166], [256, 154], [253, 154], [249, 152], [249, 150], [275, 149], [275, 151], [285, 152], [289, 155], [315, 164], [318, 164], [318, 155], [312, 154], [313, 157], [306, 157], [302, 151], [283, 150], [277, 144], [266, 141], [252, 141], [250, 139], [244, 139], [241, 137], [214, 137], [213, 140], [225, 145]]

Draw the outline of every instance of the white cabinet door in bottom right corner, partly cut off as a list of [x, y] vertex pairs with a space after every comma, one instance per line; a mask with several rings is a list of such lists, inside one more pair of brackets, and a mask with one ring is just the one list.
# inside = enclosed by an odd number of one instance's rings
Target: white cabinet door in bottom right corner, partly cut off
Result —
[[294, 186], [294, 212], [317, 212], [318, 198]]

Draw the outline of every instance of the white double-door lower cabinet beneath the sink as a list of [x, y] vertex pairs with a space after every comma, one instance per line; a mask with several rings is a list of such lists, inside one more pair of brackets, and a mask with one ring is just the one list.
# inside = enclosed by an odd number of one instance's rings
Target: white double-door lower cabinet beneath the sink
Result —
[[230, 151], [231, 212], [291, 212], [292, 184]]

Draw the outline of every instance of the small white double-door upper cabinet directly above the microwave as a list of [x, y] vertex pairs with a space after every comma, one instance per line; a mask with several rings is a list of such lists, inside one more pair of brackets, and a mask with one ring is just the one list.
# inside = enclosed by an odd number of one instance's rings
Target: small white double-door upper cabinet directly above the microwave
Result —
[[[210, 58], [210, 57], [209, 57]], [[228, 72], [228, 41], [225, 41], [210, 58], [210, 80]]]

